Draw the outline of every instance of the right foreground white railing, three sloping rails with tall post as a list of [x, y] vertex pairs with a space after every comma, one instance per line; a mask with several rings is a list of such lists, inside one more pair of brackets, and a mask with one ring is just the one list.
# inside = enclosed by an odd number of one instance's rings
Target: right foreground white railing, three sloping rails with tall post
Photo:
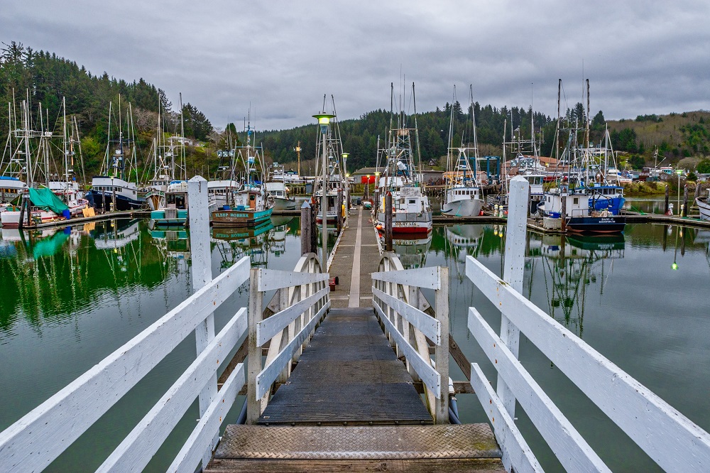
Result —
[[518, 361], [518, 337], [523, 332], [660, 467], [669, 472], [710, 471], [708, 433], [520, 294], [528, 183], [514, 178], [510, 188], [503, 279], [466, 257], [466, 276], [501, 310], [503, 320], [499, 336], [475, 308], [469, 308], [469, 330], [498, 371], [498, 392], [475, 363], [471, 385], [493, 425], [506, 469], [542, 471], [513, 420], [517, 399], [567, 471], [609, 471]]

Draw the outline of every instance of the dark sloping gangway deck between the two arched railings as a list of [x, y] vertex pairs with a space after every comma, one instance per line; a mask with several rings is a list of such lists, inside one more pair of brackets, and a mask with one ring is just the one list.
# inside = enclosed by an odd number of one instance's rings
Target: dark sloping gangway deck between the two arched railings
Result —
[[371, 309], [334, 309], [260, 424], [432, 423]]

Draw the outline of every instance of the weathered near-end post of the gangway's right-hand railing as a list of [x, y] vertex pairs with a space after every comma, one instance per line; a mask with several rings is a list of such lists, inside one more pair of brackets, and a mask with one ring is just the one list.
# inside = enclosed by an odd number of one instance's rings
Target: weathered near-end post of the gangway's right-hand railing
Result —
[[439, 268], [439, 289], [436, 290], [437, 320], [441, 323], [441, 339], [435, 349], [437, 372], [441, 376], [437, 399], [436, 423], [449, 423], [449, 268]]

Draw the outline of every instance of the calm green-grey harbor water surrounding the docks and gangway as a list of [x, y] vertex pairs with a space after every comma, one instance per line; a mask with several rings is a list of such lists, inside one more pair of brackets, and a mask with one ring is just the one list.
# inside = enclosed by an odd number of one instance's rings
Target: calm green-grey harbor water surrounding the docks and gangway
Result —
[[[251, 232], [213, 230], [213, 275], [243, 256], [255, 267], [292, 269], [300, 256], [298, 227], [298, 219], [289, 217]], [[151, 229], [146, 220], [117, 220], [45, 233], [0, 232], [0, 430], [192, 293], [185, 231]], [[467, 308], [478, 308], [496, 329], [500, 314], [466, 278], [465, 261], [473, 256], [500, 275], [505, 233], [505, 227], [495, 225], [437, 226], [430, 238], [395, 240], [405, 267], [450, 268], [452, 335], [493, 384], [495, 371], [466, 328]], [[710, 430], [710, 317], [704, 292], [710, 281], [710, 232], [628, 224], [623, 237], [529, 232], [528, 240], [524, 295]], [[242, 286], [217, 310], [217, 330], [236, 308], [247, 305], [247, 290]], [[432, 300], [432, 294], [426, 295]], [[48, 471], [96, 469], [193, 359], [195, 342], [188, 337]], [[613, 471], [657, 470], [525, 337], [520, 361]], [[464, 379], [451, 366], [452, 378]], [[464, 423], [485, 420], [474, 395], [458, 400]], [[239, 406], [231, 421], [235, 411]], [[520, 406], [516, 415], [545, 471], [562, 471]], [[195, 402], [148, 471], [168, 466], [197, 416]]]

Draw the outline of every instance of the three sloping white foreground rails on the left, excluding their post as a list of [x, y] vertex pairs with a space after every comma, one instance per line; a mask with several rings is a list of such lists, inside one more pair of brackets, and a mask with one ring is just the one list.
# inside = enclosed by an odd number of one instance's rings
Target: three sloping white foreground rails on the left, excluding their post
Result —
[[[38, 471], [47, 467], [248, 278], [249, 258], [244, 258], [0, 433], [0, 471]], [[148, 464], [244, 335], [246, 318], [246, 308], [231, 317], [99, 471], [141, 471]], [[170, 471], [195, 469], [204, 452], [210, 450], [212, 439], [219, 432], [219, 420], [243, 385], [244, 366], [240, 364], [212, 399]]]

